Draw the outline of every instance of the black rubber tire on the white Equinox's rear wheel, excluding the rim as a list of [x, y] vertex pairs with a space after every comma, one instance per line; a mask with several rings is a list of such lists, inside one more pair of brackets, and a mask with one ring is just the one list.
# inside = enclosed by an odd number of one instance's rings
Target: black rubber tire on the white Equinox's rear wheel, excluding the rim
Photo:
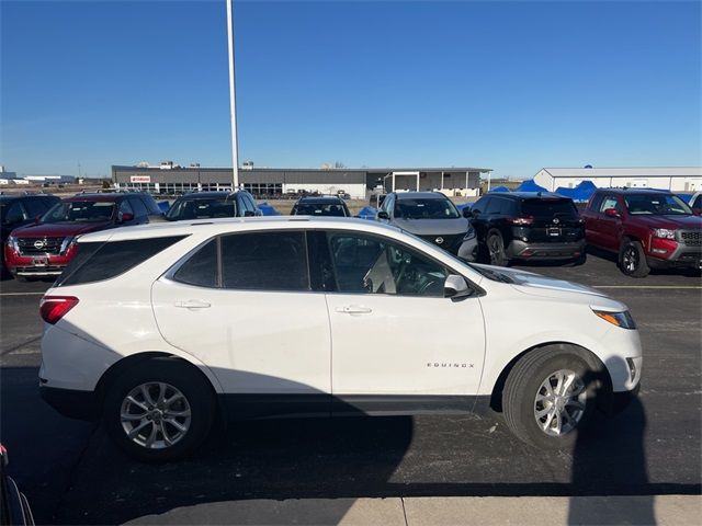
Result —
[[[127, 431], [123, 427], [121, 418], [123, 403], [127, 403], [126, 397], [134, 389], [148, 382], [162, 384], [168, 386], [168, 388], [180, 391], [185, 401], [173, 402], [180, 403], [176, 409], [183, 413], [190, 412], [189, 421], [185, 420], [186, 416], [178, 416], [181, 420], [177, 420], [181, 426], [185, 426], [185, 422], [188, 423], [186, 432], [172, 445], [166, 445], [162, 448], [149, 448], [129, 438]], [[156, 388], [156, 391], [151, 390], [150, 392], [156, 397], [158, 388]], [[168, 389], [166, 392], [167, 400], [174, 393], [172, 389]], [[168, 395], [169, 392], [171, 395]], [[136, 405], [129, 403], [129, 408], [135, 407]], [[216, 403], [212, 386], [200, 371], [194, 370], [191, 365], [184, 364], [176, 358], [152, 358], [127, 369], [110, 385], [104, 400], [103, 424], [107, 434], [117, 446], [132, 457], [147, 462], [161, 462], [186, 457], [202, 444], [212, 427], [215, 408]], [[137, 411], [141, 411], [141, 409], [137, 408]], [[146, 409], [144, 411], [145, 414], [148, 412]], [[179, 430], [173, 427], [173, 424], [167, 423], [169, 422], [167, 419], [168, 415], [170, 415], [170, 413], [163, 412], [159, 413], [158, 416], [149, 415], [147, 418], [149, 422], [141, 419], [134, 424], [127, 422], [125, 425], [136, 426], [145, 423], [144, 435], [146, 435], [146, 431], [156, 427], [154, 422], [158, 421], [160, 425], [168, 430], [166, 432], [167, 434], [178, 435]], [[161, 416], [163, 419], [162, 422], [159, 420]], [[171, 418], [170, 422], [173, 420], [174, 419]], [[166, 444], [165, 434], [157, 432], [155, 437], [158, 439], [159, 435], [161, 439], [155, 442]], [[140, 436], [141, 434], [137, 433], [136, 439], [140, 439]]]

